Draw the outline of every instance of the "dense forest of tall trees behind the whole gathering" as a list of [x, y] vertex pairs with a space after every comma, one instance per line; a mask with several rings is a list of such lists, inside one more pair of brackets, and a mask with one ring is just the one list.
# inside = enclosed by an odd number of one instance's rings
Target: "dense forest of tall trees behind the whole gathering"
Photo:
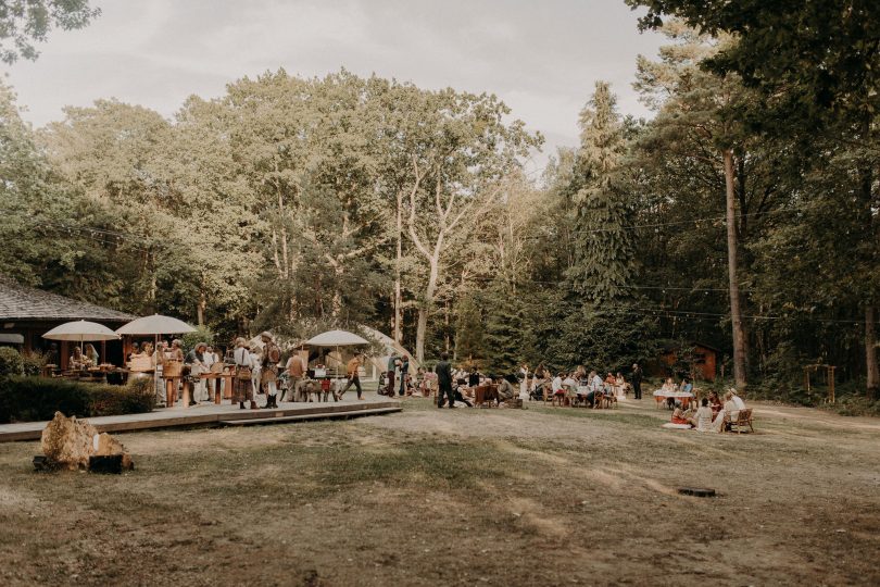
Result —
[[542, 174], [491, 93], [278, 70], [35, 130], [2, 85], [2, 271], [223, 339], [366, 324], [495, 371], [702, 341], [739, 386], [876, 390], [880, 11], [630, 3], [668, 38], [636, 64], [654, 115], [596, 83]]

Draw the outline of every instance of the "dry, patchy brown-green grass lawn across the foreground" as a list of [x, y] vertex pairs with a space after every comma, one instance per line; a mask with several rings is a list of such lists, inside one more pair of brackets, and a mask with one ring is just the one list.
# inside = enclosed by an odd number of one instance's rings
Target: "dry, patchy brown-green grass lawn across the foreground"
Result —
[[0, 585], [880, 584], [880, 422], [632, 403], [128, 434], [122, 476], [0, 445]]

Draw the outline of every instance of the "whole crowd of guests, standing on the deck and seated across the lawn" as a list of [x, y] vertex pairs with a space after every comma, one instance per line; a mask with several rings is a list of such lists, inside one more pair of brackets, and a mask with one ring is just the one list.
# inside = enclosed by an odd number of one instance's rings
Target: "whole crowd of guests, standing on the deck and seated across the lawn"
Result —
[[[201, 375], [212, 371], [231, 370], [232, 403], [240, 409], [257, 409], [256, 397], [265, 396], [263, 408], [278, 408], [278, 401], [312, 401], [312, 395], [324, 392], [324, 399], [332, 394], [335, 400], [354, 387], [357, 399], [363, 400], [361, 369], [365, 364], [364, 353], [354, 354], [345, 363], [345, 378], [331, 382], [329, 377], [316, 380], [318, 373], [325, 371], [323, 364], [309, 367], [307, 355], [292, 352], [285, 363], [281, 362], [281, 349], [271, 333], [260, 335], [262, 345], [250, 345], [244, 338], [237, 338], [231, 349], [225, 353], [217, 352], [211, 345], [198, 342], [185, 353], [179, 339], [159, 340], [155, 348], [148, 341], [134, 342], [127, 355], [129, 364], [138, 358], [149, 359], [155, 369], [158, 403], [171, 405], [178, 400], [188, 400], [194, 405], [212, 401], [212, 394], [221, 394], [222, 378], [205, 379]], [[80, 352], [75, 347], [71, 357], [73, 365], [97, 363], [97, 351], [92, 345], [86, 345]], [[643, 372], [638, 364], [632, 365], [629, 377], [621, 372], [606, 372], [604, 376], [596, 370], [588, 371], [578, 366], [574, 371], [552, 372], [543, 364], [533, 371], [527, 364], [518, 373], [498, 375], [483, 374], [473, 363], [453, 367], [449, 355], [443, 353], [433, 370], [419, 366], [415, 373], [410, 370], [410, 358], [394, 354], [388, 359], [384, 380], [378, 392], [387, 397], [437, 397], [438, 408], [474, 407], [479, 388], [491, 388], [492, 399], [500, 407], [512, 405], [516, 401], [553, 401], [566, 405], [584, 405], [598, 408], [613, 405], [632, 392], [634, 400], [642, 399], [641, 386]], [[187, 395], [185, 390], [190, 392]], [[661, 394], [684, 392], [692, 397], [693, 384], [684, 377], [681, 384], [671, 378], [665, 380], [658, 389]], [[279, 398], [280, 396], [280, 398]], [[724, 401], [715, 391], [703, 398], [701, 405], [682, 402], [677, 397], [668, 398], [672, 410], [670, 424], [676, 427], [692, 427], [700, 430], [720, 432], [727, 422], [738, 417], [745, 403], [734, 390], [725, 395]]]

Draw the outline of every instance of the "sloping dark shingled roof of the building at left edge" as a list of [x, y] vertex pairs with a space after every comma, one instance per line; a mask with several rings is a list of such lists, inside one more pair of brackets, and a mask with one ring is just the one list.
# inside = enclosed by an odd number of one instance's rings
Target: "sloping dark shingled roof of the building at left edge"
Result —
[[136, 317], [125, 312], [27, 287], [11, 277], [0, 275], [0, 321], [130, 322]]

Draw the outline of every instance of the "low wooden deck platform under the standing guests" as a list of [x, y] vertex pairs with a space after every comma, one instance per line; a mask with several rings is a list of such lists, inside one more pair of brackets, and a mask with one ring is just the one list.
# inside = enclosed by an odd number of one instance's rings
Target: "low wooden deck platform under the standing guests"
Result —
[[[159, 409], [147, 414], [89, 417], [99, 432], [122, 433], [193, 426], [248, 426], [303, 420], [349, 419], [399, 412], [392, 400], [344, 400], [339, 402], [280, 402], [277, 410], [240, 410], [238, 404], [204, 403], [192, 408]], [[0, 425], [0, 442], [39, 440], [48, 422]]]

